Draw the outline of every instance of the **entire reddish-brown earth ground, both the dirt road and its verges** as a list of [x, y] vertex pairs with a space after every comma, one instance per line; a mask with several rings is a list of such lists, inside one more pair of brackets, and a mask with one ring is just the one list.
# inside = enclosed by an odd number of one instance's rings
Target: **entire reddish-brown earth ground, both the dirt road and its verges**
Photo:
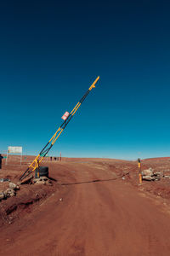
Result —
[[[11, 164], [0, 178], [16, 182], [26, 165]], [[0, 255], [169, 255], [170, 179], [139, 186], [135, 161], [43, 165], [53, 186], [22, 185], [0, 202]], [[142, 167], [170, 174], [169, 158], [143, 160]]]

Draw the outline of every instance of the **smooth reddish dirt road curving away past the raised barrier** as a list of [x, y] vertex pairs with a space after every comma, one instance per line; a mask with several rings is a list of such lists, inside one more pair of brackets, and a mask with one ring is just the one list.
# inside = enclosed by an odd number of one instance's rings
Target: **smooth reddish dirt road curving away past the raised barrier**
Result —
[[[95, 163], [59, 167], [71, 176], [53, 172], [53, 177], [70, 184], [1, 230], [0, 255], [170, 255], [168, 206], [116, 179], [111, 168]], [[97, 179], [105, 181], [93, 182]]]

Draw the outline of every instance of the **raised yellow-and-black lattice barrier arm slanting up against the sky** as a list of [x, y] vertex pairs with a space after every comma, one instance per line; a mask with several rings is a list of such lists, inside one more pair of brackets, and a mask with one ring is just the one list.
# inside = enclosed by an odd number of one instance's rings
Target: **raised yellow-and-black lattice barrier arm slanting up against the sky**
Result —
[[53, 147], [54, 143], [57, 141], [57, 139], [59, 138], [61, 133], [65, 130], [66, 125], [69, 124], [69, 122], [71, 121], [72, 117], [77, 112], [77, 109], [80, 108], [82, 102], [86, 99], [86, 97], [88, 96], [90, 91], [93, 88], [95, 88], [95, 84], [97, 83], [98, 80], [99, 80], [99, 77], [97, 79], [95, 79], [94, 83], [88, 88], [88, 90], [85, 93], [85, 95], [82, 96], [82, 99], [77, 103], [75, 108], [72, 109], [71, 113], [69, 113], [69, 116], [67, 117], [67, 119], [65, 119], [65, 121], [62, 123], [62, 125], [59, 126], [59, 129], [54, 133], [54, 136], [50, 138], [48, 143], [45, 145], [44, 148], [42, 148], [42, 151], [37, 155], [35, 160], [33, 160], [31, 162], [31, 165], [28, 166], [28, 168], [26, 169], [26, 172], [24, 172], [22, 174], [22, 176], [20, 177], [20, 181], [22, 181], [25, 177], [30, 175], [31, 172], [34, 172], [36, 170], [36, 168], [38, 166], [38, 161], [39, 161], [39, 164], [40, 164], [42, 162], [43, 158], [48, 154], [49, 150]]

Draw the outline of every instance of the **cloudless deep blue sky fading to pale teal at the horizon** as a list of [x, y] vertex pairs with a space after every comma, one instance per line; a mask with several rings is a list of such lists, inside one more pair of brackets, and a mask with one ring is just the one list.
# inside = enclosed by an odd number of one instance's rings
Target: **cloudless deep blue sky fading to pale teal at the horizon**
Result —
[[37, 154], [99, 75], [51, 154], [170, 155], [169, 1], [3, 1], [0, 150]]

